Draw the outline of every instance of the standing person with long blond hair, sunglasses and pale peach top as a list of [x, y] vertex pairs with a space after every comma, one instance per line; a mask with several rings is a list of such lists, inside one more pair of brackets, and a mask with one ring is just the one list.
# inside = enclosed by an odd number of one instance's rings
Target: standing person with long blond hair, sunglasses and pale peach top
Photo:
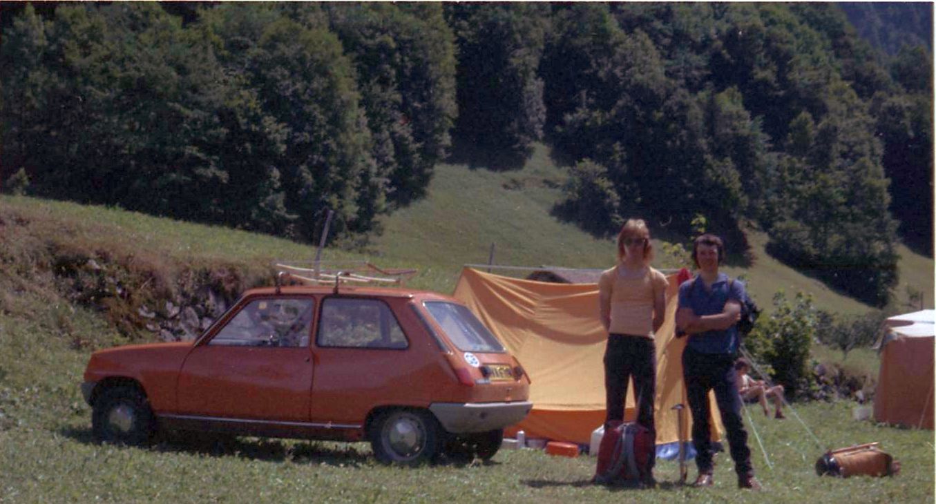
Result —
[[[663, 325], [666, 278], [650, 266], [650, 230], [641, 219], [629, 219], [618, 234], [618, 264], [598, 281], [601, 322], [607, 329], [605, 392], [607, 422], [623, 420], [628, 379], [634, 378], [637, 423], [653, 426], [656, 395], [656, 349], [653, 335]], [[652, 469], [651, 459], [651, 469]], [[649, 472], [651, 474], [651, 472]], [[652, 482], [652, 476], [650, 478]]]

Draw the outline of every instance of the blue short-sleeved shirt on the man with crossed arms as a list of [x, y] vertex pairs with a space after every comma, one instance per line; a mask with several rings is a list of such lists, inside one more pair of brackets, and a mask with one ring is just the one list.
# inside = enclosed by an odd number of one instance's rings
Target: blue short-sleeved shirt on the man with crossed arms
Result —
[[[718, 274], [718, 278], [711, 284], [710, 291], [706, 290], [705, 282], [698, 276], [680, 285], [680, 309], [692, 309], [693, 313], [700, 317], [721, 313], [728, 299], [741, 302], [741, 299], [744, 299], [744, 284], [740, 281], [729, 281], [724, 273]], [[723, 331], [691, 334], [686, 345], [698, 353], [737, 353], [738, 327], [732, 325]]]

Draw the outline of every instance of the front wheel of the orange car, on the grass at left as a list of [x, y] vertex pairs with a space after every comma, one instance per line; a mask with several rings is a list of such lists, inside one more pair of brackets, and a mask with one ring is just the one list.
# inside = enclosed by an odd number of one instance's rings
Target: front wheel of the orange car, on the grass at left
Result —
[[92, 433], [98, 442], [140, 445], [155, 430], [153, 410], [146, 396], [133, 386], [115, 386], [95, 400]]

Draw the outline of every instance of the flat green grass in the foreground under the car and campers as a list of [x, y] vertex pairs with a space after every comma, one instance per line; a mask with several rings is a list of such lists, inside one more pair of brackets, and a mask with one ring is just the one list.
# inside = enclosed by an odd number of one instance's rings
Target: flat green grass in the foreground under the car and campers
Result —
[[[77, 310], [74, 330], [117, 338], [94, 313]], [[675, 484], [678, 465], [659, 461], [653, 490], [595, 486], [594, 458], [502, 451], [490, 463], [392, 468], [364, 443], [241, 438], [225, 442], [164, 439], [146, 448], [95, 444], [90, 409], [78, 390], [87, 353], [51, 332], [51, 318], [0, 315], [0, 502], [932, 502], [931, 431], [856, 422], [854, 403], [809, 403], [794, 418], [768, 420], [751, 407], [753, 462], [766, 493], [735, 487], [727, 455], [716, 457], [716, 485]], [[749, 427], [749, 432], [751, 429]], [[880, 441], [902, 464], [894, 478], [819, 478], [826, 447]], [[695, 468], [690, 469], [690, 478]]]

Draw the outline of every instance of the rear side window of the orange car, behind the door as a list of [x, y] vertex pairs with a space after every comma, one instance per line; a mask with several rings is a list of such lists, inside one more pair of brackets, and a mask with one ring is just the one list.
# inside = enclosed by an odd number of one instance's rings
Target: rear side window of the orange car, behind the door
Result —
[[404, 349], [409, 346], [393, 311], [377, 299], [329, 297], [322, 301], [320, 347]]

